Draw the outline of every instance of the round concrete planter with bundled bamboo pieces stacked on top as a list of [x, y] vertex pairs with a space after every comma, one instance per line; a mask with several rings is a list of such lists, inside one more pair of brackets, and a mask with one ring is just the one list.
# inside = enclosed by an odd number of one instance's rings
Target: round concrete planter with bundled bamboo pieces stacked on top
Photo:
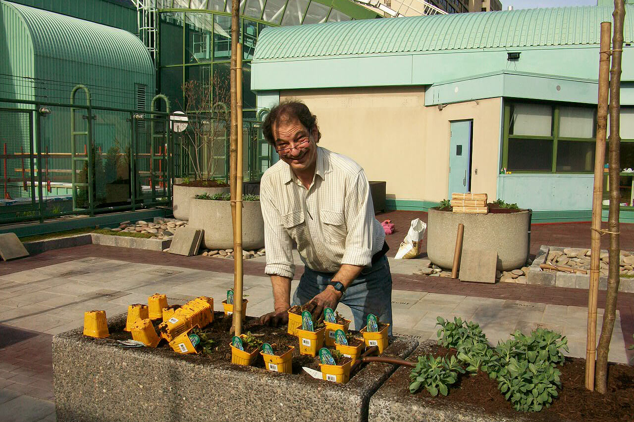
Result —
[[495, 250], [498, 270], [510, 271], [526, 264], [530, 215], [527, 210], [509, 214], [465, 214], [429, 210], [427, 255], [443, 268], [453, 265], [458, 224], [465, 225], [462, 248]]

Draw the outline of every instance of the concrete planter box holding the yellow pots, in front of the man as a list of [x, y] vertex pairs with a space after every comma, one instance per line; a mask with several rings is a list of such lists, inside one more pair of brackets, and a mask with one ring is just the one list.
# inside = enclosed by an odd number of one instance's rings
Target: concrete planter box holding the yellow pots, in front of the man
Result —
[[[108, 326], [120, 329], [125, 321], [121, 314]], [[385, 354], [406, 357], [417, 344], [396, 338]], [[58, 422], [362, 422], [370, 396], [393, 371], [373, 363], [337, 385], [171, 350], [116, 347], [81, 329], [53, 338]]]

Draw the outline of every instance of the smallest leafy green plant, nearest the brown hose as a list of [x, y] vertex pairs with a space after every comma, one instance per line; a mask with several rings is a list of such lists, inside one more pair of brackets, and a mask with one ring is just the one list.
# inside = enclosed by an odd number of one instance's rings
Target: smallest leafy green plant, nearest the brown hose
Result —
[[419, 356], [418, 363], [410, 372], [410, 393], [421, 387], [432, 395], [447, 395], [449, 387], [458, 381], [458, 374], [465, 370], [455, 356], [434, 357], [432, 354]]

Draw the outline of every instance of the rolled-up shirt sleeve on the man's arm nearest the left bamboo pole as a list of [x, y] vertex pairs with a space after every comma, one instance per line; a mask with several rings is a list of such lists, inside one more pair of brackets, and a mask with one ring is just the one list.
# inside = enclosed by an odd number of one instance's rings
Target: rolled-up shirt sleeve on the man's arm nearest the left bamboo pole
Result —
[[293, 278], [293, 243], [281, 223], [280, 212], [274, 205], [275, 195], [269, 179], [262, 179], [260, 186], [260, 205], [264, 219], [264, 247], [266, 248], [266, 267], [269, 276], [278, 275]]

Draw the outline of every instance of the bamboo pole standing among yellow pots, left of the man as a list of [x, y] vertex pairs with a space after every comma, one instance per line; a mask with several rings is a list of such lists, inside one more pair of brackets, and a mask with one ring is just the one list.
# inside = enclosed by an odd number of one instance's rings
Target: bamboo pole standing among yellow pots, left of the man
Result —
[[236, 224], [233, 231], [233, 328], [235, 335], [242, 334], [242, 44], [238, 44], [238, 58], [236, 60], [236, 117], [238, 120], [238, 144], [236, 148]]

